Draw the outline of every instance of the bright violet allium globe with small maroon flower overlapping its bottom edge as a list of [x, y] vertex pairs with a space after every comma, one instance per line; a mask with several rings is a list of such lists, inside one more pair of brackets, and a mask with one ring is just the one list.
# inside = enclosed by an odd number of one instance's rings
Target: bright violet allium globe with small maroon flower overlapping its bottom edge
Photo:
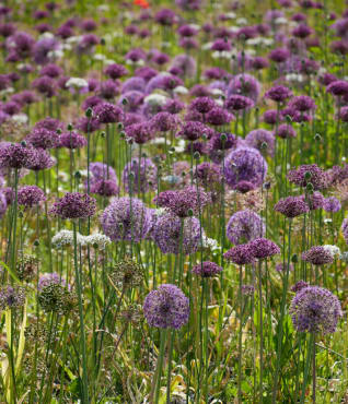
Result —
[[257, 150], [239, 147], [227, 156], [223, 174], [232, 188], [243, 180], [258, 187], [266, 177], [267, 163]]

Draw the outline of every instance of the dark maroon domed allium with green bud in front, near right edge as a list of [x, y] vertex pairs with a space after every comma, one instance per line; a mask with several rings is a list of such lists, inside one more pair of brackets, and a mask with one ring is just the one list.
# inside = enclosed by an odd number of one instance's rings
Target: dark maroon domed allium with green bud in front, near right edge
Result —
[[306, 187], [308, 183], [312, 183], [315, 190], [328, 187], [327, 175], [316, 164], [304, 164], [293, 168], [289, 170], [287, 178], [290, 182], [300, 187]]

